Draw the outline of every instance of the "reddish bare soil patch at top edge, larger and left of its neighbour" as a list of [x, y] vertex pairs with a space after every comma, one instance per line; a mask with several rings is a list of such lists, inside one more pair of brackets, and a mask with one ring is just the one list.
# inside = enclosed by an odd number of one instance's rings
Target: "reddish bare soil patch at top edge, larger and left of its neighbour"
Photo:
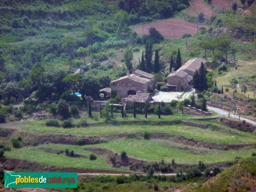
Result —
[[[216, 0], [216, 1], [218, 1], [218, 0]], [[222, 1], [222, 0], [220, 0], [220, 1]], [[204, 3], [204, 0], [190, 0], [190, 2], [192, 4], [192, 6], [186, 10], [186, 12], [189, 13], [190, 15], [198, 16], [198, 14], [200, 12], [204, 13], [205, 18], [207, 18], [207, 17], [209, 18], [212, 15], [216, 15], [216, 13], [214, 11], [212, 11], [212, 9], [210, 9], [206, 3]]]

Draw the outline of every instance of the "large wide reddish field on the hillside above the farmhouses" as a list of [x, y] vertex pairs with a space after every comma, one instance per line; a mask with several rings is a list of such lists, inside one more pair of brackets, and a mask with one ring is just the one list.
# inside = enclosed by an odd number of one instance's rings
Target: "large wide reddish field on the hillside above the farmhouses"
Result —
[[164, 38], [181, 38], [185, 33], [190, 33], [192, 36], [194, 36], [197, 33], [197, 29], [200, 29], [201, 27], [207, 28], [207, 26], [197, 26], [195, 23], [189, 23], [183, 20], [162, 20], [154, 23], [135, 26], [134, 31], [139, 35], [149, 34], [148, 29], [150, 27], [157, 29], [157, 31], [159, 31]]

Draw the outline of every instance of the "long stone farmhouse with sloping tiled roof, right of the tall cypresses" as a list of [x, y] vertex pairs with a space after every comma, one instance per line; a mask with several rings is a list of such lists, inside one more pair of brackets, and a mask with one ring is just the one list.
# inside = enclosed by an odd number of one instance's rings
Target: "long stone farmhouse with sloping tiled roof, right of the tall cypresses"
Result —
[[177, 71], [173, 71], [167, 76], [166, 86], [170, 91], [180, 91], [186, 89], [193, 79], [196, 70], [199, 70], [201, 63], [207, 67], [207, 61], [201, 58], [194, 58], [183, 64]]

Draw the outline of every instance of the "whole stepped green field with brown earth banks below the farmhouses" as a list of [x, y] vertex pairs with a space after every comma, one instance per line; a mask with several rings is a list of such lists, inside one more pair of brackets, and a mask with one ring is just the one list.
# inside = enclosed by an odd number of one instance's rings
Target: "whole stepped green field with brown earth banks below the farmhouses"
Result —
[[[163, 118], [168, 119], [167, 116]], [[169, 125], [152, 119], [149, 124], [129, 120], [129, 125], [116, 122], [115, 125], [90, 126], [88, 123], [79, 128], [47, 127], [45, 120], [15, 122], [13, 127], [9, 123], [3, 124], [2, 132], [4, 129], [11, 137], [21, 135], [23, 138], [21, 148], [5, 151], [7, 163], [14, 169], [18, 167], [11, 162], [19, 159], [37, 163], [46, 170], [70, 168], [79, 172], [131, 172], [130, 166], [136, 165], [141, 171], [143, 163], [147, 162], [164, 160], [171, 163], [175, 159], [179, 165], [195, 165], [200, 160], [205, 164], [223, 164], [256, 152], [255, 134], [229, 128], [218, 120], [190, 119], [209, 125], [208, 128], [185, 125], [173, 119]], [[78, 140], [83, 142], [78, 143]], [[74, 156], [67, 156], [66, 149], [73, 150]], [[127, 154], [126, 160], [120, 158], [122, 151]], [[90, 160], [90, 154], [95, 154], [97, 159]], [[116, 164], [121, 167], [113, 167], [111, 156], [115, 156]]]

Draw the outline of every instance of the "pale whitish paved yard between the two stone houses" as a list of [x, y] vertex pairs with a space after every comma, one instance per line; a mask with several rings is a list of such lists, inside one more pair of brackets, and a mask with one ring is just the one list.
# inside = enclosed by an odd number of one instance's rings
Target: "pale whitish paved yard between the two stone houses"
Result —
[[180, 96], [182, 92], [163, 92], [155, 91], [151, 102], [171, 102], [172, 100], [178, 100], [177, 96]]

